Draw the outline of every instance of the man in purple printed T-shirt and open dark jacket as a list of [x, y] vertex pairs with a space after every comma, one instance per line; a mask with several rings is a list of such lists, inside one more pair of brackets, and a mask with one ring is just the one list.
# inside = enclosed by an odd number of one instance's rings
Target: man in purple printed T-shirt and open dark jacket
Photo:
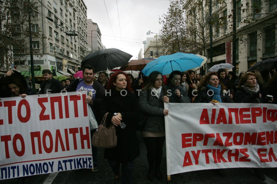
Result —
[[[88, 92], [88, 96], [85, 98], [85, 102], [89, 104], [92, 112], [98, 122], [101, 123], [102, 118], [99, 117], [99, 108], [102, 101], [102, 97], [105, 95], [105, 88], [100, 83], [93, 81], [94, 68], [90, 65], [83, 66], [83, 79], [75, 79], [67, 88], [68, 92], [71, 91], [84, 91]], [[90, 131], [90, 135], [96, 132], [96, 129]], [[93, 172], [98, 171], [97, 154], [98, 148], [91, 145], [92, 158], [93, 158]]]

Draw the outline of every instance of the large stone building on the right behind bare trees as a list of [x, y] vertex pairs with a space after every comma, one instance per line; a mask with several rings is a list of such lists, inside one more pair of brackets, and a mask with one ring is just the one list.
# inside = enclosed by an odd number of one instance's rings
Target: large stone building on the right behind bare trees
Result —
[[[233, 2], [236, 3], [237, 48], [232, 48]], [[205, 55], [209, 57], [208, 22], [212, 22], [213, 65], [231, 63], [233, 49], [236, 49], [237, 74], [247, 71], [258, 61], [276, 58], [276, 0], [215, 0], [212, 1], [211, 18], [209, 1], [187, 0], [183, 9], [186, 11], [188, 30], [191, 29], [194, 32], [188, 34], [188, 37], [193, 42], [202, 44], [201, 49], [192, 48], [192, 53], [206, 53]], [[207, 62], [209, 61], [210, 59]]]

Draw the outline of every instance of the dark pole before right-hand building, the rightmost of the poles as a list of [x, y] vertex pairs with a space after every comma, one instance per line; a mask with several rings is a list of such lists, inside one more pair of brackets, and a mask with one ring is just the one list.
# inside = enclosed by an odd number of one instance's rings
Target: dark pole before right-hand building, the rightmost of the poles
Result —
[[232, 43], [232, 65], [235, 66], [232, 69], [232, 72], [234, 74], [236, 73], [236, 46], [237, 46], [237, 25], [236, 25], [236, 20], [237, 20], [237, 11], [236, 11], [236, 0], [233, 0], [233, 43]]

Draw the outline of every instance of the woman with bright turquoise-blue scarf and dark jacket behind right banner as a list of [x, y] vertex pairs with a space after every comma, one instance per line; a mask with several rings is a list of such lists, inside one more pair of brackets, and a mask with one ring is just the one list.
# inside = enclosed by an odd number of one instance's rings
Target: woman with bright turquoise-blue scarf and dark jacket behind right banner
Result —
[[215, 102], [231, 103], [231, 99], [226, 93], [226, 87], [220, 83], [217, 73], [211, 72], [199, 84], [193, 103], [213, 103], [215, 105]]

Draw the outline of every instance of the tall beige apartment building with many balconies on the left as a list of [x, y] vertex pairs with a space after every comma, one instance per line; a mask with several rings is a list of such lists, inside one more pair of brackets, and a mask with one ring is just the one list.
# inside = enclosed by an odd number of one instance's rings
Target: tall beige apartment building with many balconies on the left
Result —
[[[88, 54], [87, 7], [83, 0], [31, 0], [35, 2], [31, 17], [36, 83], [40, 83], [42, 70], [50, 69], [57, 75], [72, 77], [81, 69], [81, 61]], [[20, 10], [20, 6], [19, 6]], [[21, 10], [20, 10], [21, 11]], [[22, 32], [24, 27], [18, 25]], [[16, 35], [20, 37], [21, 34]], [[15, 37], [16, 38], [16, 37]], [[26, 40], [28, 42], [29, 40]], [[14, 57], [26, 58], [16, 63], [16, 69], [29, 77], [31, 60], [29, 50], [17, 50]]]

